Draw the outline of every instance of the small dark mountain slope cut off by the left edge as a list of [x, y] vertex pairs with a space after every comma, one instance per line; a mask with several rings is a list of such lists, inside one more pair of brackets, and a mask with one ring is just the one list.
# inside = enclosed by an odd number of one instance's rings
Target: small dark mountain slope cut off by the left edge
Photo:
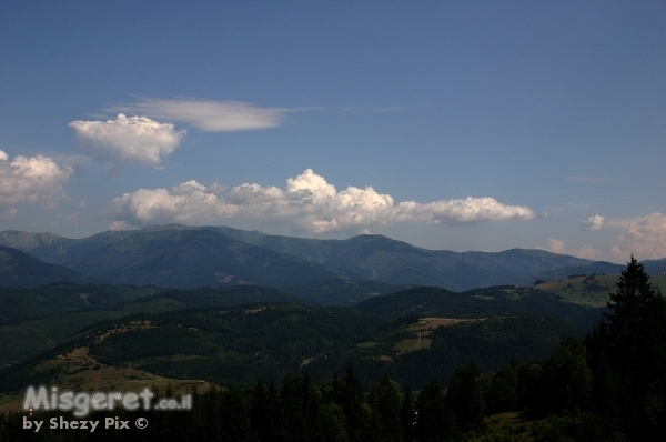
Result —
[[58, 281], [87, 283], [94, 279], [0, 245], [0, 287], [30, 289]]

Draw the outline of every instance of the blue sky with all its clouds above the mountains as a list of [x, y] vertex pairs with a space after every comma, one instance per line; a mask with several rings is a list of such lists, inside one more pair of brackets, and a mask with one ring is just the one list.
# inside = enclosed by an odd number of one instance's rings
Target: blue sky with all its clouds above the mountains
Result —
[[666, 258], [664, 1], [0, 0], [0, 231]]

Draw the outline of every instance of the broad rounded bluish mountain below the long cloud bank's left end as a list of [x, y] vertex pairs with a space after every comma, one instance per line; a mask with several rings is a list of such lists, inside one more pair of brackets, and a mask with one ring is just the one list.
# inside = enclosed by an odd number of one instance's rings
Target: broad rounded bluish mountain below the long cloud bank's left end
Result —
[[180, 289], [346, 277], [206, 229], [139, 232], [88, 253], [72, 269], [108, 283]]

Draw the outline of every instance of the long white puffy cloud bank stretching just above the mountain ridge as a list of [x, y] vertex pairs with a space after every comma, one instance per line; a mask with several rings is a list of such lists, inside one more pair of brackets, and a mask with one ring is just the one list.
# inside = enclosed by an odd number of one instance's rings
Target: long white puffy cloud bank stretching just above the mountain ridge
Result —
[[113, 228], [150, 223], [203, 224], [232, 217], [281, 221], [311, 233], [357, 233], [370, 227], [397, 222], [466, 224], [492, 220], [534, 218], [522, 205], [493, 198], [466, 198], [428, 203], [395, 203], [390, 194], [372, 187], [335, 187], [311, 169], [286, 180], [285, 189], [245, 183], [224, 189], [188, 181], [170, 190], [140, 189], [111, 201]]

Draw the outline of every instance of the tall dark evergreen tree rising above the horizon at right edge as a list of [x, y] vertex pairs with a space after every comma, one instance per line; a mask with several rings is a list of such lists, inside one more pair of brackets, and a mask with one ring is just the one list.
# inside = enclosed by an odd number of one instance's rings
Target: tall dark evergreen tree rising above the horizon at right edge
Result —
[[666, 408], [666, 300], [632, 255], [609, 294], [609, 313], [586, 338], [593, 370], [593, 404], [608, 431], [666, 439], [655, 416]]

